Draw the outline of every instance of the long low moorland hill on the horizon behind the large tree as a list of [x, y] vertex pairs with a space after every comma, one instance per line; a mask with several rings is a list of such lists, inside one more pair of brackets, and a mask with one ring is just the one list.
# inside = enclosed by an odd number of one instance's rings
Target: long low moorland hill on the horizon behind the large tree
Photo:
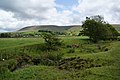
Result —
[[[120, 24], [112, 24], [116, 30], [120, 32]], [[20, 30], [19, 32], [26, 31], [38, 31], [38, 30], [48, 30], [54, 32], [79, 32], [81, 30], [81, 25], [71, 25], [71, 26], [56, 26], [56, 25], [36, 25], [36, 26], [27, 26]]]

